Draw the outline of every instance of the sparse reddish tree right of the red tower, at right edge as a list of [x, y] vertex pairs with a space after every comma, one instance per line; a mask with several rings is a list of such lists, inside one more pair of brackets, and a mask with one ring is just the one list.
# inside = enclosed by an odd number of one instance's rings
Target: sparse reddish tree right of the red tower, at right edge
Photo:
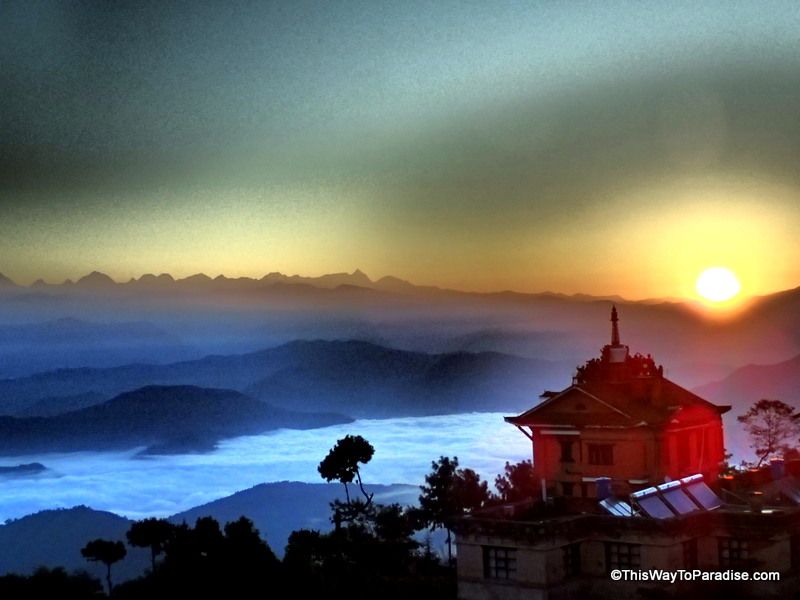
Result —
[[736, 419], [750, 436], [750, 446], [758, 456], [758, 464], [775, 452], [785, 452], [787, 442], [797, 437], [798, 426], [792, 418], [794, 408], [780, 400], [762, 398]]

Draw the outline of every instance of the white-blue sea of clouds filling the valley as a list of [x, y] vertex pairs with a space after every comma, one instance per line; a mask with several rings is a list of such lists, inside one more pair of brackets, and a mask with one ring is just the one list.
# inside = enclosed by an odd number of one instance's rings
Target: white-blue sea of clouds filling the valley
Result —
[[362, 435], [375, 456], [362, 469], [369, 483], [418, 485], [439, 456], [458, 456], [461, 466], [489, 479], [506, 461], [529, 459], [528, 439], [498, 413], [398, 419], [362, 419], [347, 425], [296, 431], [281, 429], [221, 442], [213, 452], [138, 456], [128, 452], [80, 452], [0, 457], [0, 464], [41, 462], [36, 477], [1, 478], [0, 521], [79, 504], [133, 519], [169, 516], [259, 483], [320, 483], [317, 465], [347, 434]]

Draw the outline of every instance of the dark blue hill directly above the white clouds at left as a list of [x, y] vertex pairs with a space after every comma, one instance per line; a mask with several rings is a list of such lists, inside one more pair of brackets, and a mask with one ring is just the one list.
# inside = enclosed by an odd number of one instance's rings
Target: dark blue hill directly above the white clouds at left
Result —
[[138, 446], [157, 453], [191, 452], [211, 449], [223, 438], [350, 421], [337, 414], [276, 408], [232, 390], [150, 386], [52, 417], [0, 417], [0, 453]]

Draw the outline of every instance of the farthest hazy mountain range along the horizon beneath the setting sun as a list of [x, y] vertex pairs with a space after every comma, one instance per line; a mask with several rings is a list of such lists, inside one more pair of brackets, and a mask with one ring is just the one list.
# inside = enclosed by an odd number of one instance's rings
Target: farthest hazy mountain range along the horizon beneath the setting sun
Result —
[[[612, 302], [619, 305], [623, 343], [655, 356], [668, 375], [687, 386], [719, 379], [744, 364], [800, 353], [800, 289], [753, 298], [740, 315], [718, 319], [691, 301], [473, 293], [392, 276], [373, 281], [359, 270], [320, 277], [197, 274], [177, 280], [148, 274], [125, 283], [94, 272], [75, 283], [0, 286], [0, 309], [8, 323], [43, 322], [47, 330], [47, 324], [68, 317], [109, 326], [104, 345], [95, 334], [76, 334], [72, 345], [66, 338], [58, 342], [59, 352], [46, 338], [21, 345], [12, 337], [4, 351], [0, 327], [0, 377], [55, 367], [175, 362], [296, 339], [361, 339], [428, 353], [497, 351], [569, 361], [574, 367], [607, 341]], [[150, 324], [151, 333], [158, 330], [169, 339], [134, 343], [134, 336], [126, 340], [120, 328], [112, 327], [121, 322]], [[20, 340], [28, 335], [21, 332]], [[34, 346], [40, 355], [32, 362]]]

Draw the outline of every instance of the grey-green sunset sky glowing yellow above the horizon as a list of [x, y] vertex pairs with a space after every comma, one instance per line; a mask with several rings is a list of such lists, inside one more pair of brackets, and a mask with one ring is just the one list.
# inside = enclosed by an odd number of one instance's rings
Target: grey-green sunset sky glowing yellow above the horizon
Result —
[[0, 4], [0, 272], [800, 285], [795, 2]]

